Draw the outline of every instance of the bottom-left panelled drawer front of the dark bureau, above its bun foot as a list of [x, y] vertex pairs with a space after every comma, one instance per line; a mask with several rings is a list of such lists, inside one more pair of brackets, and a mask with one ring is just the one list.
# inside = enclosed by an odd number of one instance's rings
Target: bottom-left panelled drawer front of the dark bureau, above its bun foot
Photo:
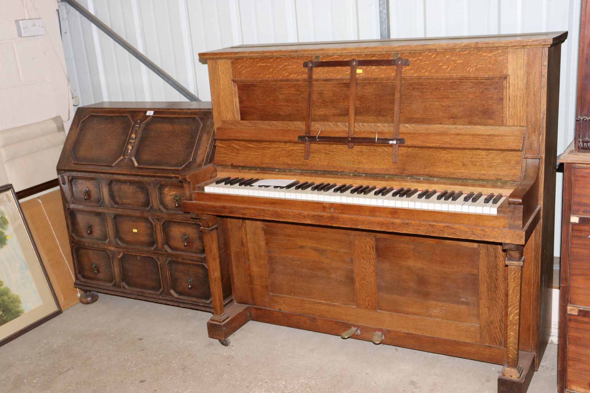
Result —
[[113, 259], [107, 250], [76, 247], [74, 259], [80, 280], [114, 285]]

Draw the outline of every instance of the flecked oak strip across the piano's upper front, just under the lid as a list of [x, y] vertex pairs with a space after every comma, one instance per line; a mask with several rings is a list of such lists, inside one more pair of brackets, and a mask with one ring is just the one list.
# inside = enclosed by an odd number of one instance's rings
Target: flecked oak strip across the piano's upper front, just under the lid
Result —
[[[391, 59], [393, 53], [321, 56], [321, 61], [363, 59]], [[405, 52], [399, 57], [409, 59], [404, 67], [405, 76], [420, 75], [497, 75], [507, 74], [508, 55], [506, 50], [488, 51], [451, 51], [451, 52]], [[233, 77], [239, 79], [253, 78], [305, 78], [307, 70], [303, 62], [313, 60], [308, 57], [273, 57], [273, 58], [238, 58], [231, 60]], [[359, 67], [362, 73], [359, 80], [365, 77], [385, 77], [395, 74], [392, 67]], [[347, 67], [316, 68], [316, 77], [347, 77]]]

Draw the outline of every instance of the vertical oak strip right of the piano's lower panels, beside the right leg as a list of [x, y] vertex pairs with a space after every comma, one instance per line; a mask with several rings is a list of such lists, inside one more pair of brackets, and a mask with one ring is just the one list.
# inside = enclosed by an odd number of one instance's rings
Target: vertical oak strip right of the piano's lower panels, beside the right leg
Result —
[[506, 254], [500, 245], [480, 243], [479, 293], [481, 342], [504, 346], [506, 339]]

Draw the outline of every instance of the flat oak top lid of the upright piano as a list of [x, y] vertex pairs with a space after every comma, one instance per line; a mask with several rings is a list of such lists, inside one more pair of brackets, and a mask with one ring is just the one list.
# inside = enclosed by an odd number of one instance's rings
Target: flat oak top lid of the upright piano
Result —
[[444, 51], [461, 49], [552, 47], [565, 41], [568, 32], [480, 35], [417, 39], [378, 39], [373, 41], [300, 42], [297, 44], [238, 45], [199, 53], [203, 59], [238, 57], [277, 57], [293, 55], [346, 55], [356, 52], [378, 54], [404, 51]]

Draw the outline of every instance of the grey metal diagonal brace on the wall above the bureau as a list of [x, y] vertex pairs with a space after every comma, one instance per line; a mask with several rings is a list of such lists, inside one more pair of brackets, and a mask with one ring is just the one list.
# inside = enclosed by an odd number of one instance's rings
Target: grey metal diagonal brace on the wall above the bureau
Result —
[[99, 29], [101, 29], [106, 35], [113, 39], [113, 41], [117, 42], [117, 44], [121, 45], [127, 52], [132, 54], [137, 60], [142, 62], [146, 67], [156, 73], [160, 78], [162, 78], [166, 83], [171, 85], [175, 88], [178, 93], [185, 96], [189, 101], [201, 101], [199, 97], [192, 94], [186, 87], [181, 85], [177, 80], [172, 78], [170, 75], [166, 73], [166, 71], [162, 70], [162, 68], [158, 67], [153, 61], [149, 60], [142, 52], [138, 51], [133, 45], [129, 44], [129, 42], [125, 41], [123, 37], [113, 31], [112, 28], [108, 27], [101, 21], [99, 18], [94, 16], [90, 11], [84, 8], [80, 3], [76, 0], [61, 0], [61, 2], [69, 4], [72, 8], [76, 9], [76, 11], [80, 12], [84, 18], [88, 19], [92, 24], [96, 25]]

